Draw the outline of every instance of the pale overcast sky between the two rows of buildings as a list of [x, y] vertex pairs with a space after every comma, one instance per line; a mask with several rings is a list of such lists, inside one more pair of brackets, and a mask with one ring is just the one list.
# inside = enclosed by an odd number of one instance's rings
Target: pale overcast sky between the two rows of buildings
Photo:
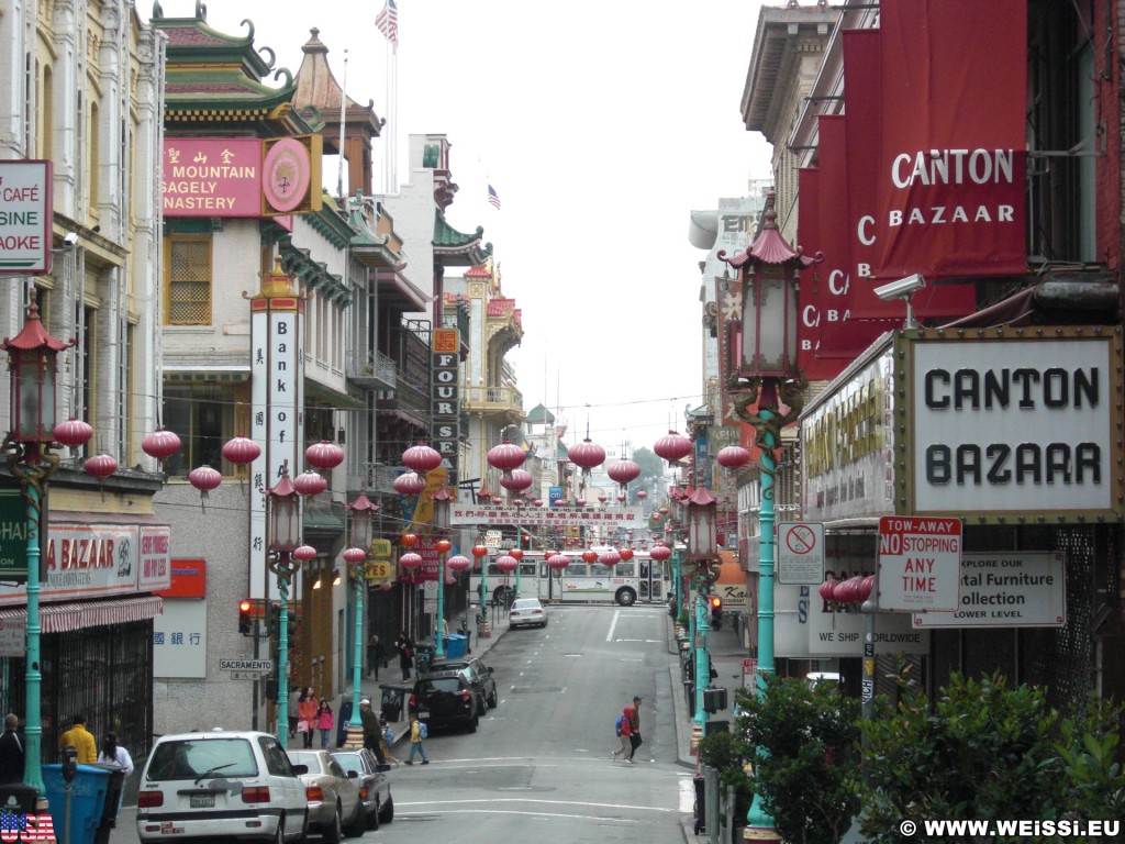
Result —
[[[195, 2], [162, 7], [190, 17]], [[207, 23], [244, 34], [249, 18], [255, 43], [292, 72], [318, 28], [341, 82], [348, 52], [348, 95], [387, 117], [381, 8], [210, 0]], [[408, 180], [408, 135], [449, 137], [460, 191], [447, 217], [466, 232], [484, 226], [503, 293], [523, 311], [523, 342], [508, 360], [524, 408], [546, 404], [569, 422], [572, 442], [588, 419], [606, 448], [651, 448], [669, 424], [683, 430], [684, 406], [701, 401], [705, 254], [687, 243], [688, 212], [770, 177], [770, 146], [739, 109], [759, 8], [398, 3], [398, 181]], [[151, 6], [141, 0], [138, 10], [147, 19]]]

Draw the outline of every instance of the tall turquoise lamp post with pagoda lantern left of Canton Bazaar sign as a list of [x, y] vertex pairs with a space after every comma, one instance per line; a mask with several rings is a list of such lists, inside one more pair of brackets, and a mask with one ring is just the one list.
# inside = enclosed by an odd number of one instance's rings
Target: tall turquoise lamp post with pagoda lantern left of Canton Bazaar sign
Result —
[[[798, 273], [821, 260], [806, 258], [781, 236], [774, 192], [766, 196], [762, 233], [746, 252], [727, 258], [739, 271], [742, 359], [727, 384], [738, 416], [757, 431], [762, 448], [760, 554], [758, 559], [758, 694], [774, 673], [774, 473], [781, 431], [804, 406], [807, 383], [796, 363]], [[750, 405], [757, 403], [757, 412]], [[782, 412], [782, 405], [786, 407]], [[756, 792], [746, 817], [746, 841], [777, 841], [773, 818]]]

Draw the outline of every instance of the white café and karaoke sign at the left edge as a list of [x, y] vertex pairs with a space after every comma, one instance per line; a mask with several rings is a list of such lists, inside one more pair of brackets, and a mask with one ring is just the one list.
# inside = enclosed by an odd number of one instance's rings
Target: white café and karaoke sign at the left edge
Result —
[[51, 272], [51, 162], [0, 161], [0, 275]]

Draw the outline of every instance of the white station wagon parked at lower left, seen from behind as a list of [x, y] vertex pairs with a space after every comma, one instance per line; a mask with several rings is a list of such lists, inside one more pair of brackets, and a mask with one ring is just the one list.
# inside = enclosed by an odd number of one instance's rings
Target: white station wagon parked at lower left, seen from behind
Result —
[[137, 835], [298, 844], [308, 828], [305, 771], [268, 733], [161, 736], [141, 773]]

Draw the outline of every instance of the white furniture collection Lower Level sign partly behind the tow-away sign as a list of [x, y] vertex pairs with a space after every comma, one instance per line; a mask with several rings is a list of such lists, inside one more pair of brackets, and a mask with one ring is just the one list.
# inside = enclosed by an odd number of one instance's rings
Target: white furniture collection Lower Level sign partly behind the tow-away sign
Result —
[[961, 559], [961, 607], [914, 617], [920, 627], [1063, 627], [1065, 557], [1058, 551], [966, 554]]

